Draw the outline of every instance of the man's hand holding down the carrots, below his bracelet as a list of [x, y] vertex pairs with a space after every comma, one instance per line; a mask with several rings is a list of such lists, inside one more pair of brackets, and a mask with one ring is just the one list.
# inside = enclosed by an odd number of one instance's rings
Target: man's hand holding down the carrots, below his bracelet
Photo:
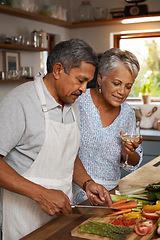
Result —
[[104, 205], [105, 203], [112, 207], [112, 200], [108, 190], [93, 181], [86, 186], [86, 194], [91, 205]]

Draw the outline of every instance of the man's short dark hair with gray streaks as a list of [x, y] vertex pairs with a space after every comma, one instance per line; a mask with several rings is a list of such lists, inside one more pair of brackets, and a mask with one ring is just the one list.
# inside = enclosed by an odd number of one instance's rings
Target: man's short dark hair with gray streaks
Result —
[[60, 62], [65, 73], [69, 74], [71, 68], [79, 68], [81, 62], [97, 66], [97, 55], [91, 46], [81, 39], [70, 39], [59, 42], [47, 58], [47, 72], [53, 71], [53, 66]]

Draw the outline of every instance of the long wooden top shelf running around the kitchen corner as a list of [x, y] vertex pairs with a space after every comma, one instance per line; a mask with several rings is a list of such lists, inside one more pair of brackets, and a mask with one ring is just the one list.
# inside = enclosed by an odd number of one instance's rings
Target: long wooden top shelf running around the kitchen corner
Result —
[[7, 7], [4, 5], [0, 5], [0, 13], [4, 13], [4, 14], [15, 16], [15, 17], [20, 17], [20, 18], [30, 19], [34, 21], [44, 22], [44, 23], [48, 23], [48, 24], [52, 24], [60, 27], [65, 27], [65, 28], [82, 28], [82, 27], [95, 27], [95, 26], [122, 24], [122, 20], [124, 19], [160, 16], [160, 14], [148, 14], [148, 15], [141, 15], [136, 17], [133, 16], [133, 17], [123, 17], [123, 18], [113, 18], [113, 19], [105, 19], [105, 20], [71, 23], [68, 21], [63, 21], [56, 18], [44, 16], [39, 13], [31, 13], [21, 9]]

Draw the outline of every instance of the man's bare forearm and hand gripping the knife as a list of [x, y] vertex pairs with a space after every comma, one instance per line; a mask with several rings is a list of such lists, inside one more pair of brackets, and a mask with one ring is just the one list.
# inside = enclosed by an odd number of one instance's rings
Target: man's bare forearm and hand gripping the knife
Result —
[[66, 194], [60, 190], [47, 189], [19, 175], [0, 156], [0, 187], [24, 195], [36, 201], [47, 214], [72, 212], [71, 203]]

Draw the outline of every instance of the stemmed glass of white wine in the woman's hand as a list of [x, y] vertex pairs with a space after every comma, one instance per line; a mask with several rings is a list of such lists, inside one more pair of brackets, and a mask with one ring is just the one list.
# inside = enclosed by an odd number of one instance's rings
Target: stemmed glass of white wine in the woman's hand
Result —
[[[123, 133], [122, 140], [130, 145], [132, 145], [131, 140], [134, 140], [135, 142], [140, 140], [140, 121], [136, 121], [135, 127], [131, 127]], [[128, 164], [128, 154], [126, 155], [125, 162], [120, 163], [120, 167], [134, 168], [134, 166]]]

